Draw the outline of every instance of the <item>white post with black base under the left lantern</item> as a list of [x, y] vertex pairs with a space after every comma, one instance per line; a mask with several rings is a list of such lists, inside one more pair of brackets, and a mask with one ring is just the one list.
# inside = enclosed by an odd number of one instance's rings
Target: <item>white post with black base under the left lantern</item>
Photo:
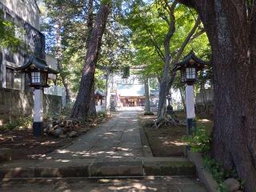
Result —
[[40, 137], [43, 134], [43, 90], [34, 90], [34, 122], [33, 134], [35, 137]]

